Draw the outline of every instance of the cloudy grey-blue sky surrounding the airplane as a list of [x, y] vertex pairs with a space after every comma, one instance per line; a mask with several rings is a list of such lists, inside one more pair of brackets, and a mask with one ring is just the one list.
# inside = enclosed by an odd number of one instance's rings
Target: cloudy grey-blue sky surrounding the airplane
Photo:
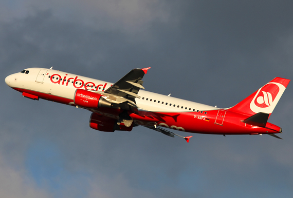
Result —
[[[291, 1], [1, 1], [1, 197], [292, 197], [292, 86], [267, 135], [136, 127], [106, 133], [90, 112], [32, 101], [7, 75], [44, 67], [116, 82], [152, 67], [146, 90], [227, 108], [292, 80]], [[180, 133], [181, 134], [181, 133]], [[184, 135], [188, 133], [182, 133]]]

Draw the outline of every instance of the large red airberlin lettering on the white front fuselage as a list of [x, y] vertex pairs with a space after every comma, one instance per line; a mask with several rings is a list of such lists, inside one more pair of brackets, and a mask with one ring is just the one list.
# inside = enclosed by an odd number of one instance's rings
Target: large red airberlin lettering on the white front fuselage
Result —
[[[48, 75], [48, 73], [47, 73], [47, 75]], [[83, 80], [78, 79], [78, 76], [76, 76], [75, 78], [69, 77], [68, 79], [66, 79], [66, 77], [67, 77], [67, 74], [63, 78], [59, 74], [53, 74], [53, 75], [51, 75], [50, 80], [54, 84], [68, 86], [68, 84], [71, 83], [77, 89], [84, 88], [86, 90], [98, 91], [99, 89], [101, 89], [101, 87], [103, 87], [103, 91], [104, 91], [105, 87], [107, 86], [107, 83], [101, 84], [101, 85], [95, 85], [95, 83], [93, 83], [93, 82], [86, 82], [85, 83]]]

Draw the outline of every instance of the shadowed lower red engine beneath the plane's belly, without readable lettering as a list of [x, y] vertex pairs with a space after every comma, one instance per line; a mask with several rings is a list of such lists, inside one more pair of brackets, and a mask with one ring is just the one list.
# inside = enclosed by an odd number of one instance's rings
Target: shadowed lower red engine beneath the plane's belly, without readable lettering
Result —
[[97, 113], [91, 113], [89, 119], [89, 127], [99, 131], [114, 132], [118, 131], [131, 131], [133, 124], [130, 127], [125, 127], [125, 125], [118, 125], [117, 120], [106, 117]]

